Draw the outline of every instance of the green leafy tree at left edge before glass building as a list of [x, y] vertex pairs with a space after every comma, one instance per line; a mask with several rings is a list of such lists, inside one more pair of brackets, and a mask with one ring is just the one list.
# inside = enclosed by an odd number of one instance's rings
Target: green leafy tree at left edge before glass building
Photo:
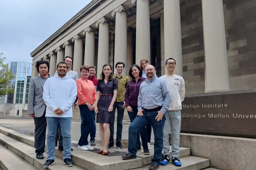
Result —
[[0, 97], [9, 93], [14, 94], [14, 90], [9, 87], [10, 80], [14, 79], [12, 71], [8, 69], [7, 64], [4, 64], [5, 57], [0, 53]]

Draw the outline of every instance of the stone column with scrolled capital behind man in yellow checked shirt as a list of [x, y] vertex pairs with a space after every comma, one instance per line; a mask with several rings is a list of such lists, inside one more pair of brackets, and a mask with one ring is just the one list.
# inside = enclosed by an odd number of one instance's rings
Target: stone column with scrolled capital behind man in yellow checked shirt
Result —
[[[116, 16], [114, 62], [115, 63], [124, 62], [125, 66], [127, 67], [127, 13], [126, 11], [128, 10], [126, 10], [122, 5], [120, 5], [113, 10], [112, 17]], [[123, 74], [127, 75], [126, 69], [124, 69]]]

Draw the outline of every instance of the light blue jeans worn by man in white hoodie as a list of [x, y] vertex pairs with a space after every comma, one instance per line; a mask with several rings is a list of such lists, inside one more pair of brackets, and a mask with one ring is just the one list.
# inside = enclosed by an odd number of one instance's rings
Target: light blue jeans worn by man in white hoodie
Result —
[[48, 158], [46, 160], [55, 158], [55, 135], [58, 123], [60, 123], [61, 135], [63, 137], [63, 159], [71, 159], [71, 120], [72, 117], [46, 117], [48, 129], [46, 140]]

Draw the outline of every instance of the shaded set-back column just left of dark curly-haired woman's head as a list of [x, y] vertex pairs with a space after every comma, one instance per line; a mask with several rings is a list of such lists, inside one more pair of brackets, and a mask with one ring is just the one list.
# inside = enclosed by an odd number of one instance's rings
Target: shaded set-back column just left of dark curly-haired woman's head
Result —
[[130, 78], [130, 76], [128, 75], [129, 69], [134, 64], [132, 36], [133, 36], [133, 34], [131, 32], [127, 33], [127, 66], [125, 66], [125, 67], [126, 67], [126, 71], [127, 71], [127, 76], [129, 78]]

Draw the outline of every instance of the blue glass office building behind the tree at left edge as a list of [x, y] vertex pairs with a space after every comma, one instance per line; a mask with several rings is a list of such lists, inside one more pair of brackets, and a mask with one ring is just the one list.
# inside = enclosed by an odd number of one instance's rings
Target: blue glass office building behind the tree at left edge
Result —
[[[0, 97], [0, 104], [3, 103], [28, 103], [28, 89], [31, 81], [32, 63], [9, 62], [7, 67], [12, 70], [14, 79], [10, 80], [9, 87], [15, 93]], [[1, 70], [3, 72], [4, 70]]]

